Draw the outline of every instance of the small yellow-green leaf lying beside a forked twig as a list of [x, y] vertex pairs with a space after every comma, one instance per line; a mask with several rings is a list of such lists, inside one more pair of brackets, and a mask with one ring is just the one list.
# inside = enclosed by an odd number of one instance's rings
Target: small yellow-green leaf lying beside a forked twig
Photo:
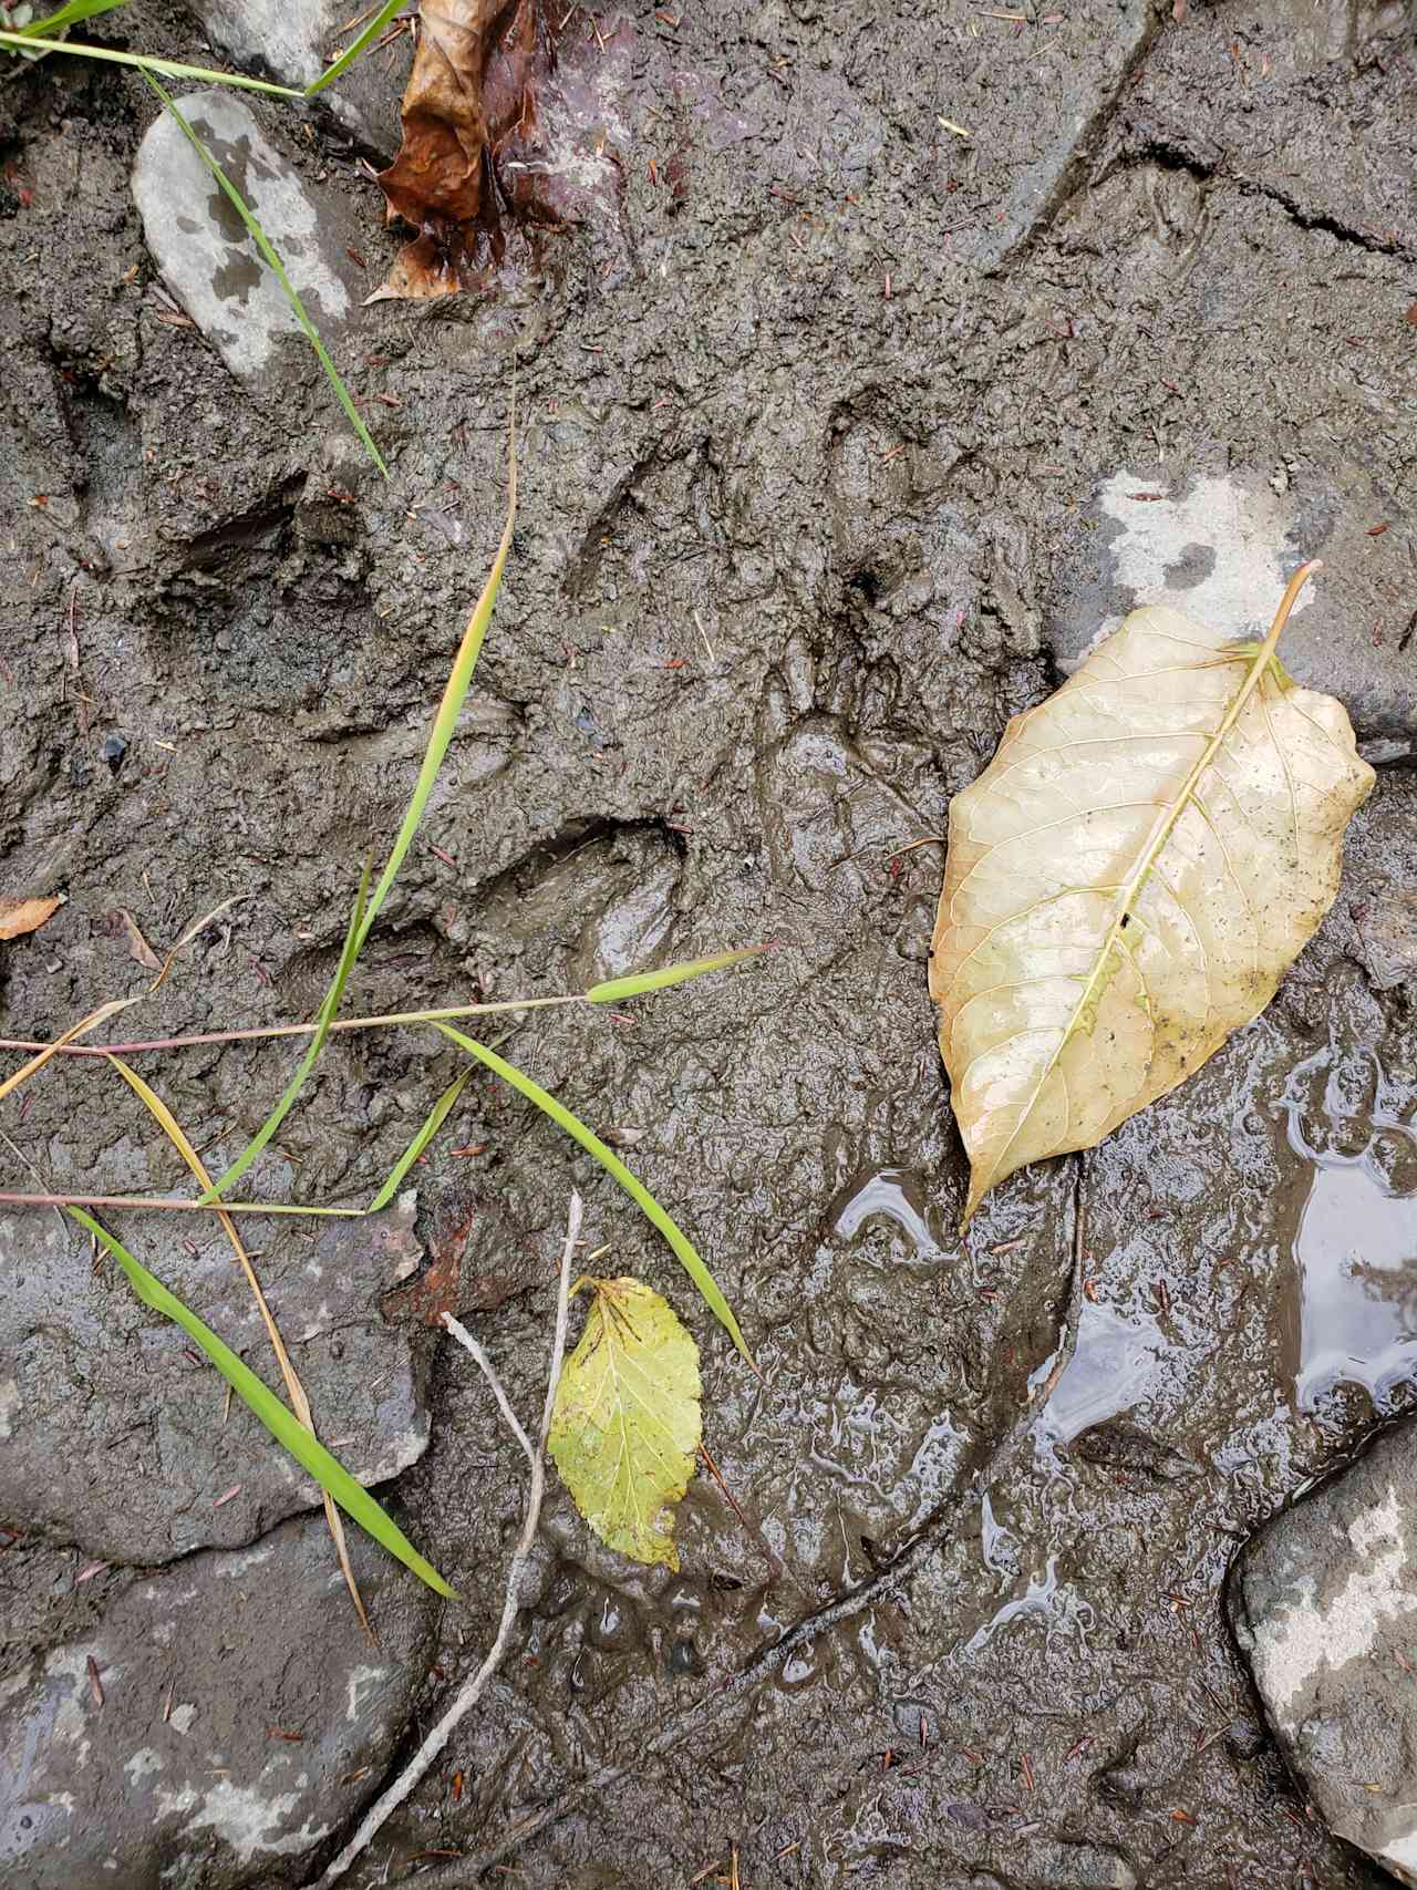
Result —
[[703, 1436], [699, 1348], [639, 1280], [593, 1280], [595, 1300], [555, 1391], [550, 1450], [601, 1542], [678, 1569], [674, 1504]]

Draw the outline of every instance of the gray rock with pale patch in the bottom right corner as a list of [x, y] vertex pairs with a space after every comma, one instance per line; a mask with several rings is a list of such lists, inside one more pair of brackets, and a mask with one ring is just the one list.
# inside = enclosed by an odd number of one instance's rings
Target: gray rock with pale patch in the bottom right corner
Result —
[[1230, 1620], [1279, 1746], [1328, 1826], [1417, 1884], [1417, 1427], [1404, 1423], [1241, 1552]]

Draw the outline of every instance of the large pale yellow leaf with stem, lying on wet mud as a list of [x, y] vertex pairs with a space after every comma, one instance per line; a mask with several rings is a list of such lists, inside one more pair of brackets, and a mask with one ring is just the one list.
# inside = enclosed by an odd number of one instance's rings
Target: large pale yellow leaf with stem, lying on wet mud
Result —
[[1205, 1062], [1332, 905], [1374, 771], [1273, 656], [1300, 582], [1264, 644], [1134, 610], [950, 803], [930, 990], [965, 1221]]

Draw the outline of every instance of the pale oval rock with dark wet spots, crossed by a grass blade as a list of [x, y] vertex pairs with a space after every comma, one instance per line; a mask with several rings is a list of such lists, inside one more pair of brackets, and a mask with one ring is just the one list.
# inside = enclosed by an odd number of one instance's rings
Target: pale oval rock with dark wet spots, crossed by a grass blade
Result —
[[[359, 232], [344, 200], [297, 176], [251, 108], [230, 91], [187, 93], [178, 108], [240, 191], [321, 340], [338, 355], [368, 293], [348, 255]], [[280, 344], [302, 336], [300, 323], [236, 208], [166, 112], [138, 147], [132, 195], [162, 282], [232, 374], [242, 380], [272, 374]], [[299, 346], [308, 342], [302, 338]], [[304, 370], [304, 357], [299, 359]]]

